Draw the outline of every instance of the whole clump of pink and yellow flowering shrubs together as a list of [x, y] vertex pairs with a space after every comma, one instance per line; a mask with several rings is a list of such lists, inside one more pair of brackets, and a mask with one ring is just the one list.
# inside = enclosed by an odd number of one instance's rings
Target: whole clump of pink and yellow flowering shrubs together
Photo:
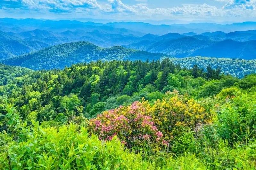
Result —
[[195, 100], [184, 101], [177, 92], [167, 93], [152, 107], [143, 100], [103, 112], [90, 120], [89, 131], [101, 140], [117, 136], [129, 148], [150, 144], [151, 149], [161, 149], [170, 146], [179, 129], [193, 129], [198, 123], [211, 121], [211, 114]]

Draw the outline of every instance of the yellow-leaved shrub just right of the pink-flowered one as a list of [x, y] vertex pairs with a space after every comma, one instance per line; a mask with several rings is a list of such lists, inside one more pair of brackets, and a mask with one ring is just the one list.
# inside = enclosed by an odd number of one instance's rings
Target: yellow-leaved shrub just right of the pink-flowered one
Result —
[[194, 99], [187, 100], [179, 96], [177, 91], [167, 92], [167, 97], [157, 100], [153, 107], [146, 110], [155, 126], [164, 134], [164, 138], [172, 141], [184, 127], [194, 129], [198, 123], [210, 123], [212, 114], [207, 112]]

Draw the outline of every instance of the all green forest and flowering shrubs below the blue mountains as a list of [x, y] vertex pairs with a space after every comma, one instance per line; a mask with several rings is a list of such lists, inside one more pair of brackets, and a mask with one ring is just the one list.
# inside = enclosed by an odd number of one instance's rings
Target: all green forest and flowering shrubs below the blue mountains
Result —
[[254, 169], [256, 74], [213, 62], [0, 65], [0, 169]]

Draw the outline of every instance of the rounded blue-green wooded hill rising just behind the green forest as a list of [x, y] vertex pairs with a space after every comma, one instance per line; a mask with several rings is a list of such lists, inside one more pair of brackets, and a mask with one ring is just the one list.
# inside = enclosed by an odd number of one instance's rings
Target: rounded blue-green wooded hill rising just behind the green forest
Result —
[[2, 60], [4, 64], [22, 66], [33, 70], [64, 68], [72, 63], [89, 62], [93, 60], [136, 60], [159, 59], [167, 55], [145, 51], [126, 49], [120, 46], [101, 48], [88, 42], [66, 43], [55, 45], [43, 50], [19, 57]]

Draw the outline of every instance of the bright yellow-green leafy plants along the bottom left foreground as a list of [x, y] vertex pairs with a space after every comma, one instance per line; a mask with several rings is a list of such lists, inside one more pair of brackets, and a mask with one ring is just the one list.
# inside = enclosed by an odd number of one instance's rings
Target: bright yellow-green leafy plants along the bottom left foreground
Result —
[[27, 141], [8, 144], [8, 154], [2, 153], [0, 158], [0, 169], [206, 168], [195, 155], [189, 156], [194, 162], [184, 161], [183, 157], [176, 160], [171, 156], [163, 158], [164, 162], [157, 159], [146, 161], [141, 153], [124, 150], [117, 137], [104, 142], [94, 134], [89, 135], [85, 128], [78, 131], [73, 124], [59, 129], [42, 128], [38, 122], [33, 124]]

